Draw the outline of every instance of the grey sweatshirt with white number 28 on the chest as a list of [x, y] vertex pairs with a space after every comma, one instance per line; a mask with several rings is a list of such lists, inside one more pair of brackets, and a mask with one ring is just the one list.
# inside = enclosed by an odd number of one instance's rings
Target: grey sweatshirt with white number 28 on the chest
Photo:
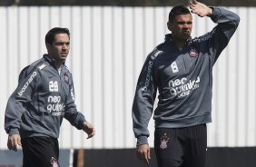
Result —
[[74, 103], [74, 83], [63, 64], [59, 73], [47, 54], [28, 65], [19, 76], [5, 110], [5, 131], [22, 138], [58, 138], [63, 118], [82, 129], [84, 115]]

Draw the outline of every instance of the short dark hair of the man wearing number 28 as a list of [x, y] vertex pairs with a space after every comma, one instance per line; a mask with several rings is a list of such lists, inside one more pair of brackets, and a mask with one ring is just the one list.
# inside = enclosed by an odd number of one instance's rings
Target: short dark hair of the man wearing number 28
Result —
[[70, 33], [67, 28], [54, 27], [51, 30], [49, 30], [48, 33], [45, 35], [45, 44], [52, 45], [56, 34], [67, 34], [70, 38]]

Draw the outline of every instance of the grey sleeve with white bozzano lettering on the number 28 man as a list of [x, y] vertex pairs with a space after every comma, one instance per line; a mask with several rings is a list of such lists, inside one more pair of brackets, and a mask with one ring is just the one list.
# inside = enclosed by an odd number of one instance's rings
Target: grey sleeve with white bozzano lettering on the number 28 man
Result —
[[34, 68], [27, 76], [19, 79], [18, 86], [11, 94], [5, 109], [6, 133], [10, 135], [19, 133], [22, 115], [26, 112], [26, 107], [40, 83], [40, 75], [38, 69]]

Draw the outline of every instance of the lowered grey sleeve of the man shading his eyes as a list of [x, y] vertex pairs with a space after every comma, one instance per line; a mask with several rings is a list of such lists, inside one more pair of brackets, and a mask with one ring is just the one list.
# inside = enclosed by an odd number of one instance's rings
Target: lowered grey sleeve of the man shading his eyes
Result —
[[150, 135], [147, 128], [153, 114], [153, 103], [157, 92], [153, 62], [154, 57], [152, 53], [148, 55], [143, 64], [133, 99], [133, 133], [137, 138], [137, 145], [147, 144], [147, 138]]

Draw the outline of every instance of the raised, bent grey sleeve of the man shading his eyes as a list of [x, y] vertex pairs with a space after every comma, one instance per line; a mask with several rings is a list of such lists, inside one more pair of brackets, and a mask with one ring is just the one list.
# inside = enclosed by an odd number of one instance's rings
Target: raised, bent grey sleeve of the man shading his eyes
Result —
[[221, 7], [212, 7], [212, 12], [210, 17], [218, 25], [209, 34], [203, 35], [201, 40], [208, 40], [212, 50], [213, 63], [215, 63], [222, 50], [231, 40], [231, 36], [235, 33], [240, 22], [240, 17]]

